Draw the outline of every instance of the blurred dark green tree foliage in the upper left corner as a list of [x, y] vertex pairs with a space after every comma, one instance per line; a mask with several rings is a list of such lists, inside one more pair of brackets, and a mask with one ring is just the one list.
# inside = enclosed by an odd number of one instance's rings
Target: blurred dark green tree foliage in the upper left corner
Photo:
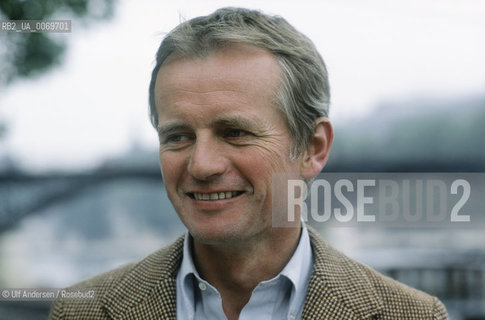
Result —
[[[116, 0], [2, 0], [2, 20], [73, 19], [88, 25], [113, 15]], [[0, 32], [0, 86], [62, 62], [66, 41], [52, 33]]]

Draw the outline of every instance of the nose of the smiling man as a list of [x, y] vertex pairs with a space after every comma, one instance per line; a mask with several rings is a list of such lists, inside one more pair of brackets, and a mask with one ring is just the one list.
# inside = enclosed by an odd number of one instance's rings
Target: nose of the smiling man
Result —
[[215, 138], [197, 137], [188, 164], [189, 174], [196, 180], [209, 181], [222, 175], [227, 162]]

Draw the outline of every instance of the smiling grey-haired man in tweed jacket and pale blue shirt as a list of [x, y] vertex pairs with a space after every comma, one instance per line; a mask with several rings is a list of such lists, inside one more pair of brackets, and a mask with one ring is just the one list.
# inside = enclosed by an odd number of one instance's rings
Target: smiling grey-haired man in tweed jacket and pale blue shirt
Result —
[[96, 297], [58, 300], [51, 319], [446, 319], [436, 298], [304, 224], [272, 226], [286, 215], [272, 177], [310, 180], [327, 160], [328, 104], [323, 60], [284, 19], [224, 8], [179, 25], [158, 50], [150, 107], [188, 233], [73, 287]]

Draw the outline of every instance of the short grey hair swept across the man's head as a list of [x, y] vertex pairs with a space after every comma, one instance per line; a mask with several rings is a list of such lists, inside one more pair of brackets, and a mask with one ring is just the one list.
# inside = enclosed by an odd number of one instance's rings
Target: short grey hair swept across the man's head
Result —
[[285, 19], [256, 10], [222, 8], [208, 16], [185, 21], [170, 31], [156, 55], [149, 88], [150, 120], [157, 128], [155, 82], [172, 54], [184, 58], [208, 56], [232, 43], [250, 44], [269, 51], [278, 62], [281, 85], [277, 105], [292, 136], [290, 155], [298, 158], [314, 133], [318, 117], [327, 117], [330, 87], [325, 63], [315, 45]]

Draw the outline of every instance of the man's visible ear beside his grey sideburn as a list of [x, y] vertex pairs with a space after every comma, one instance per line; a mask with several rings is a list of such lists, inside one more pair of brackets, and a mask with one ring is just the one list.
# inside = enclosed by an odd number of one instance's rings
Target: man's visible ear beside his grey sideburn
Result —
[[322, 171], [327, 163], [333, 141], [330, 121], [321, 117], [315, 120], [313, 137], [300, 158], [300, 174], [304, 179], [312, 179]]

